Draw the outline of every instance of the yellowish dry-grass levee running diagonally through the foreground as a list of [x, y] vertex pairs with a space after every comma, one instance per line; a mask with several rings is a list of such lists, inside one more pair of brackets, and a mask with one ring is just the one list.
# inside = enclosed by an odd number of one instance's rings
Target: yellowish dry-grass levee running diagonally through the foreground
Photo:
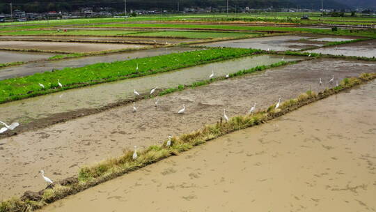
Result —
[[117, 176], [127, 174], [141, 167], [163, 160], [164, 158], [168, 158], [169, 156], [176, 156], [181, 152], [194, 148], [194, 146], [204, 144], [205, 142], [230, 132], [265, 123], [266, 121], [287, 114], [299, 107], [303, 107], [304, 105], [308, 105], [322, 98], [327, 98], [335, 93], [350, 89], [353, 86], [375, 78], [376, 73], [363, 73], [359, 77], [345, 78], [338, 86], [325, 89], [318, 94], [312, 91], [302, 93], [297, 98], [281, 103], [278, 109], [275, 109], [275, 105], [271, 105], [269, 108], [254, 114], [231, 117], [228, 122], [219, 120], [217, 123], [204, 126], [200, 130], [173, 137], [173, 139], [171, 139], [171, 146], [166, 146], [166, 142], [164, 142], [162, 145], [152, 145], [147, 149], [138, 151], [138, 158], [136, 160], [132, 159], [132, 151], [125, 150], [123, 156], [118, 158], [109, 158], [96, 165], [82, 167], [79, 170], [78, 179], [75, 182], [65, 185], [54, 185], [52, 188], [42, 190], [40, 191], [42, 195], [37, 199], [14, 197], [4, 200], [0, 203], [0, 212], [23, 212], [40, 209], [42, 206], [67, 197], [68, 195], [73, 195], [104, 181], [109, 181]]

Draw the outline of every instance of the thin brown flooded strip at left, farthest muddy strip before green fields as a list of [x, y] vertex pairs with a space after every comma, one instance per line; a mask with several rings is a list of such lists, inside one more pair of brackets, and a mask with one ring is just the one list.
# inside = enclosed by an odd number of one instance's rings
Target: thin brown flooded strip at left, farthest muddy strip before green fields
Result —
[[109, 41], [109, 42], [140, 42], [140, 43], [183, 43], [191, 42], [198, 39], [178, 39], [178, 38], [134, 38], [134, 37], [95, 37], [95, 36], [0, 36], [0, 40], [63, 40], [63, 41]]

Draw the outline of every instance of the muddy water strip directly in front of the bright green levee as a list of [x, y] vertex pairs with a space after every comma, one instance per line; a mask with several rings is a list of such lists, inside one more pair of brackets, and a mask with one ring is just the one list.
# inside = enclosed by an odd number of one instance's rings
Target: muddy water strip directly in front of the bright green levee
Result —
[[[284, 58], [285, 61], [301, 59], [295, 56], [284, 56]], [[203, 79], [209, 79], [212, 70], [214, 70], [215, 77], [220, 77], [256, 66], [267, 66], [277, 63], [281, 59], [283, 59], [283, 56], [280, 55], [247, 56], [240, 59], [182, 68], [157, 75], [86, 86], [81, 89], [70, 89], [1, 104], [0, 114], [4, 114], [2, 119], [5, 121], [17, 120], [25, 123], [54, 116], [58, 113], [103, 107], [121, 100], [132, 100], [134, 99], [134, 89], [139, 93], [150, 93], [150, 90], [156, 86], [158, 89], [169, 89], [180, 84], [192, 84]], [[64, 84], [63, 79], [61, 79], [61, 83]]]

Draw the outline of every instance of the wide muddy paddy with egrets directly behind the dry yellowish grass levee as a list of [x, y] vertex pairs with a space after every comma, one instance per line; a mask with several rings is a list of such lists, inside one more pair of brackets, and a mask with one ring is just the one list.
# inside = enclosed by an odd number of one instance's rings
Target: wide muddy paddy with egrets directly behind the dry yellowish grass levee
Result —
[[[74, 176], [82, 165], [119, 156], [123, 149], [132, 149], [134, 145], [142, 149], [166, 141], [169, 135], [182, 135], [216, 123], [224, 108], [228, 116], [245, 114], [253, 103], [257, 103], [256, 109], [265, 109], [279, 97], [295, 98], [310, 86], [313, 91], [334, 86], [328, 84], [331, 75], [340, 80], [375, 69], [376, 63], [370, 61], [302, 61], [171, 93], [159, 97], [159, 107], [154, 107], [155, 98], [139, 100], [136, 113], [132, 113], [131, 105], [124, 105], [0, 139], [0, 155], [4, 158], [0, 160], [0, 199], [44, 188], [40, 169], [58, 181]], [[318, 85], [320, 77], [323, 86]], [[183, 103], [187, 111], [178, 115]]]

